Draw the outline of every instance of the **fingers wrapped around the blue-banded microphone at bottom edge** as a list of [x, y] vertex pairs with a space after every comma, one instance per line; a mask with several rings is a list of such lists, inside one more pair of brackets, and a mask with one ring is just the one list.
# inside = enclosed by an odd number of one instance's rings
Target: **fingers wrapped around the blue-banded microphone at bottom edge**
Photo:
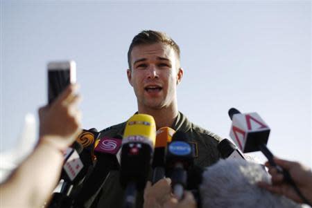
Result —
[[196, 208], [196, 201], [193, 194], [189, 191], [184, 191], [184, 198], [178, 202], [177, 198], [171, 198], [164, 203], [164, 208]]

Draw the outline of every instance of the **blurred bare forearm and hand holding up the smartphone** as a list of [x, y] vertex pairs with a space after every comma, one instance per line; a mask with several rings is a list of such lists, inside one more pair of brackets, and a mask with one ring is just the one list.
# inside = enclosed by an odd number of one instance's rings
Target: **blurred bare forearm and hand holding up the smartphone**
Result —
[[39, 110], [40, 138], [33, 153], [0, 185], [0, 207], [40, 207], [58, 184], [63, 151], [80, 133], [77, 86]]

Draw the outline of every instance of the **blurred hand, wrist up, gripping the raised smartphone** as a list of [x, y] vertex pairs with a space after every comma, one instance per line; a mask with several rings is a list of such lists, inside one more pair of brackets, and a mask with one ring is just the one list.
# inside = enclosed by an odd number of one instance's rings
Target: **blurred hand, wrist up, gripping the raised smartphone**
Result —
[[76, 84], [69, 85], [50, 106], [39, 109], [40, 142], [49, 142], [62, 150], [76, 140], [81, 131], [77, 88]]

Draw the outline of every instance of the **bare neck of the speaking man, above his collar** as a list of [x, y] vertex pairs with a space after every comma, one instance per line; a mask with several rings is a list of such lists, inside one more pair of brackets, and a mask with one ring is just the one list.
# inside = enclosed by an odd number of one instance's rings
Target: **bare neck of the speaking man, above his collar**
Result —
[[156, 123], [156, 129], [160, 129], [162, 127], [171, 127], [173, 126], [173, 122], [175, 122], [175, 118], [177, 117], [177, 108], [162, 108], [162, 109], [139, 109], [139, 113], [144, 113], [148, 115], [152, 115], [154, 117]]

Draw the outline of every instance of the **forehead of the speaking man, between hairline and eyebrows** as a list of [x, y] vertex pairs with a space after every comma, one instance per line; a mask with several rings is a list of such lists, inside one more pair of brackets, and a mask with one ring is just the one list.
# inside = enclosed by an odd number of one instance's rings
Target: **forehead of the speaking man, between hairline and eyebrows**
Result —
[[135, 62], [137, 59], [148, 59], [154, 56], [173, 59], [175, 57], [175, 52], [171, 46], [162, 43], [135, 46], [131, 51], [132, 62]]

